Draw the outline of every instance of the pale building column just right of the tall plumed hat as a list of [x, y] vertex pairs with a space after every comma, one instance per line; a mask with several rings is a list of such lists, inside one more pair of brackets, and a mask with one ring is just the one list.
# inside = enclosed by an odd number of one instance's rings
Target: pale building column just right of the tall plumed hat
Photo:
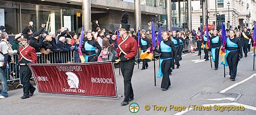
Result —
[[135, 27], [136, 32], [138, 32], [138, 28], [141, 28], [141, 10], [140, 10], [140, 0], [134, 0], [134, 10], [135, 10]]

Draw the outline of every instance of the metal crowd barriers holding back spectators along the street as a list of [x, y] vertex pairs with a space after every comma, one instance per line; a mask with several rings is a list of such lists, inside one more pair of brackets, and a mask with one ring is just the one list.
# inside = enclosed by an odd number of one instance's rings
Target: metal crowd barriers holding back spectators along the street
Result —
[[[189, 51], [191, 42], [188, 43], [187, 47], [184, 47], [182, 51]], [[183, 44], [185, 45], [185, 44]], [[104, 47], [102, 47], [103, 50]], [[117, 47], [107, 47], [106, 50], [109, 52], [102, 61], [111, 61], [113, 56], [117, 54]], [[37, 63], [38, 64], [57, 64], [57, 63], [81, 63], [79, 59], [78, 51], [69, 50], [67, 52], [50, 52], [49, 54], [44, 54], [41, 52], [37, 52]], [[18, 61], [18, 54], [11, 54], [12, 55], [12, 62], [9, 63], [10, 68], [7, 69], [7, 81], [19, 81], [19, 66], [17, 65]], [[155, 52], [155, 56], [159, 56], [159, 53]], [[83, 54], [83, 56], [85, 56]], [[102, 57], [102, 55], [100, 55]], [[135, 56], [136, 62], [139, 62], [140, 55]], [[9, 82], [10, 83], [10, 82]]]

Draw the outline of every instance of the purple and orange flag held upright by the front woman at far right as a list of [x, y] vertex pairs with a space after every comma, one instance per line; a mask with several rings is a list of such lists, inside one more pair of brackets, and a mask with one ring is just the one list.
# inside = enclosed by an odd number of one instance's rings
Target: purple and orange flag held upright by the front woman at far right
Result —
[[227, 36], [226, 36], [226, 29], [225, 29], [225, 26], [224, 26], [224, 24], [223, 24], [223, 22], [222, 22], [222, 32], [221, 32], [221, 35], [222, 35], [222, 45], [223, 45], [223, 47], [221, 48], [221, 50], [220, 50], [220, 53], [221, 53], [221, 56], [222, 56], [222, 62], [221, 62], [221, 64], [222, 65], [227, 65], [227, 64], [225, 64], [226, 62], [225, 62], [225, 55], [226, 55], [226, 53], [225, 53], [225, 46], [226, 46], [226, 43], [227, 43]]

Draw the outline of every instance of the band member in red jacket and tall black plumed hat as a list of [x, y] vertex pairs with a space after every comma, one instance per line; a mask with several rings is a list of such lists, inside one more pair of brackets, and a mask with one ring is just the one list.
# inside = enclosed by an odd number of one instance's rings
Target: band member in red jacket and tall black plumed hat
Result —
[[134, 69], [135, 56], [137, 54], [137, 41], [129, 36], [130, 24], [128, 24], [128, 18], [130, 14], [125, 12], [122, 16], [122, 24], [119, 28], [119, 35], [121, 38], [117, 40], [118, 52], [112, 59], [112, 62], [120, 57], [120, 69], [123, 75], [124, 81], [124, 100], [121, 105], [129, 104], [129, 101], [134, 99], [132, 88], [132, 76]]

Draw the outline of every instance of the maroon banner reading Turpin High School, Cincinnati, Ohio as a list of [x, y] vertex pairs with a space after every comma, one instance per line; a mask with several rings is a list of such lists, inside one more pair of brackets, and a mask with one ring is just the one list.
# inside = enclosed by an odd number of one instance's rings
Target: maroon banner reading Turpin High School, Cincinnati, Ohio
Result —
[[38, 92], [118, 98], [111, 62], [29, 64]]

